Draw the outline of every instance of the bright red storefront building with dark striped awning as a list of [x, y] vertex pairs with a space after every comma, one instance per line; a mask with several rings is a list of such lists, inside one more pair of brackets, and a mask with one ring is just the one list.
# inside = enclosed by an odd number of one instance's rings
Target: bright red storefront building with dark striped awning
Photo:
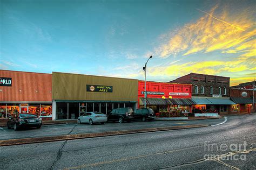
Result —
[[[144, 108], [144, 81], [138, 82], [138, 107]], [[158, 113], [161, 111], [191, 112], [191, 84], [146, 82], [146, 105]]]

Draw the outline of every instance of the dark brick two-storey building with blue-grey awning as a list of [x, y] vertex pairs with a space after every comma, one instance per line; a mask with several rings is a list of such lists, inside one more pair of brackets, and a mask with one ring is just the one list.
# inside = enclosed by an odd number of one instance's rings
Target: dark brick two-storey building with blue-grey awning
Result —
[[227, 114], [230, 100], [230, 77], [190, 73], [170, 83], [192, 84], [192, 112], [218, 112]]

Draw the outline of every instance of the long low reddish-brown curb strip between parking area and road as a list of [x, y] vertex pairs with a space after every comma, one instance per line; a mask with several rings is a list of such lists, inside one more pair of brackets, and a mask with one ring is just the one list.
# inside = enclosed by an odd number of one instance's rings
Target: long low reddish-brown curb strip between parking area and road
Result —
[[168, 131], [168, 130], [179, 130], [179, 129], [190, 129], [190, 128], [203, 128], [203, 127], [207, 127], [207, 126], [211, 126], [211, 125], [197, 124], [197, 125], [185, 125], [185, 126], [169, 126], [169, 127], [163, 127], [163, 128], [147, 128], [147, 129], [110, 131], [110, 132], [98, 132], [98, 133], [69, 134], [69, 135], [38, 137], [38, 138], [8, 139], [8, 140], [0, 140], [0, 146], [44, 143], [44, 142], [60, 141], [60, 140], [96, 138], [96, 137], [116, 136], [116, 135], [133, 134], [133, 133], [146, 133], [146, 132], [157, 132], [157, 131]]

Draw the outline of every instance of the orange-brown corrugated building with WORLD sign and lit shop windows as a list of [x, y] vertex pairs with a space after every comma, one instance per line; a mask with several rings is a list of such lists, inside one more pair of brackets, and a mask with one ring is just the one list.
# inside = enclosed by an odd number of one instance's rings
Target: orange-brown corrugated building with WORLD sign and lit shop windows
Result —
[[0, 70], [0, 118], [18, 112], [51, 119], [51, 74]]

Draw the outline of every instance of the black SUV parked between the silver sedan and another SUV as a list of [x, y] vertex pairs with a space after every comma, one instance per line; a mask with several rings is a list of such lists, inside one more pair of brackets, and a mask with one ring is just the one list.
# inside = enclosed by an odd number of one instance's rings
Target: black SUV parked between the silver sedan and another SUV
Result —
[[118, 121], [119, 123], [123, 123], [124, 121], [131, 122], [132, 119], [132, 108], [113, 109], [107, 115], [107, 121]]

